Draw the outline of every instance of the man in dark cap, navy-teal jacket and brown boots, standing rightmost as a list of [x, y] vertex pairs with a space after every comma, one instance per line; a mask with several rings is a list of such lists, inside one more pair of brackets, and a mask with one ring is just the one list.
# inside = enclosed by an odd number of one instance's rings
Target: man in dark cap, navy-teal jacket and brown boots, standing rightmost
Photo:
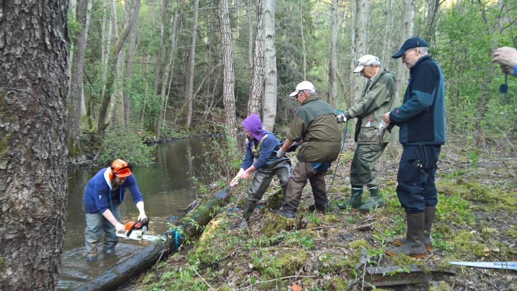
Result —
[[409, 68], [409, 82], [402, 106], [384, 115], [383, 121], [400, 128], [403, 151], [397, 175], [397, 196], [407, 214], [405, 239], [396, 239], [390, 256], [425, 257], [432, 250], [431, 225], [437, 204], [434, 177], [440, 147], [445, 143], [444, 77], [427, 55], [429, 46], [420, 37], [407, 39], [394, 59], [402, 57]]

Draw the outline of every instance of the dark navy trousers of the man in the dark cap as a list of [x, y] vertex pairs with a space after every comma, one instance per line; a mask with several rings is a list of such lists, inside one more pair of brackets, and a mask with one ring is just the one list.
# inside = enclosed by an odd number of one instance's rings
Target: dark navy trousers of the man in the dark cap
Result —
[[420, 213], [435, 207], [438, 199], [434, 177], [440, 145], [406, 146], [397, 174], [397, 196], [406, 213]]

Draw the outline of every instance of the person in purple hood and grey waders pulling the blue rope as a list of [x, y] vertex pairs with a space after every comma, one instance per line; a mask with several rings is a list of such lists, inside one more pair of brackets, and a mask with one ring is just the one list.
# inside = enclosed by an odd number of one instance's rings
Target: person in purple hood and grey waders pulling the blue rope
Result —
[[262, 122], [257, 114], [251, 114], [241, 122], [241, 125], [244, 128], [246, 138], [246, 156], [239, 172], [230, 182], [230, 186], [237, 185], [240, 179], [248, 179], [251, 172], [256, 170], [242, 207], [244, 221], [239, 227], [246, 227], [257, 201], [264, 196], [264, 192], [269, 187], [273, 176], [277, 175], [285, 196], [287, 182], [291, 174], [291, 161], [286, 157], [276, 158], [280, 141], [262, 128]]

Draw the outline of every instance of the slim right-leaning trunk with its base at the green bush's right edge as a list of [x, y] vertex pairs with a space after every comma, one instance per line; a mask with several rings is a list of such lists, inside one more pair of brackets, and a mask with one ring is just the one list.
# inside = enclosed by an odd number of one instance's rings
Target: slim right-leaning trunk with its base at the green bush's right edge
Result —
[[[170, 83], [168, 83], [167, 81], [169, 80], [169, 75], [172, 76], [172, 72], [174, 71], [174, 56], [176, 54], [176, 33], [177, 33], [177, 28], [178, 28], [178, 20], [179, 20], [179, 14], [181, 12], [181, 8], [183, 8], [183, 5], [185, 5], [185, 0], [182, 0], [179, 4], [178, 4], [178, 7], [176, 8], [176, 11], [174, 12], [174, 16], [171, 17], [171, 23], [172, 23], [172, 26], [171, 26], [171, 48], [170, 48], [170, 51], [169, 51], [169, 61], [167, 62], [167, 64], [165, 65], [165, 69], [163, 71], [163, 78], [162, 78], [162, 89], [161, 89], [161, 98], [160, 100], [163, 100], [163, 103], [160, 103], [160, 113], [161, 114], [158, 114], [158, 128], [157, 128], [157, 132], [158, 132], [158, 135], [160, 135], [160, 132], [161, 132], [161, 127], [163, 126], [163, 124], [165, 124], [165, 113], [166, 113], [166, 109], [167, 109], [167, 103], [169, 101], [169, 94], [170, 94], [170, 85], [169, 85], [169, 90], [166, 90], [166, 86]], [[172, 77], [171, 77], [171, 81], [172, 81]], [[165, 95], [165, 92], [168, 92], [168, 94]]]

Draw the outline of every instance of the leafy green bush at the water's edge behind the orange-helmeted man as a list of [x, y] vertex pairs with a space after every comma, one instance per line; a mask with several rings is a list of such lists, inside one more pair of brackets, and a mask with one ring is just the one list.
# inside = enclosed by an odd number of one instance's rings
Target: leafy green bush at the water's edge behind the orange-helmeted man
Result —
[[116, 158], [131, 165], [146, 166], [154, 160], [154, 146], [147, 146], [135, 130], [108, 130], [99, 150], [99, 161], [110, 163]]

